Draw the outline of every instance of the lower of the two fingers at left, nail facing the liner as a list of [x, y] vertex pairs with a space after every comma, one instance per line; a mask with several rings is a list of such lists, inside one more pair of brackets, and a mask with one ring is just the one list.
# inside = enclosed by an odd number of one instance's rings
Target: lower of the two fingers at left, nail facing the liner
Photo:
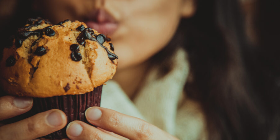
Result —
[[19, 122], [0, 127], [0, 139], [35, 139], [62, 129], [67, 124], [61, 110], [48, 110]]

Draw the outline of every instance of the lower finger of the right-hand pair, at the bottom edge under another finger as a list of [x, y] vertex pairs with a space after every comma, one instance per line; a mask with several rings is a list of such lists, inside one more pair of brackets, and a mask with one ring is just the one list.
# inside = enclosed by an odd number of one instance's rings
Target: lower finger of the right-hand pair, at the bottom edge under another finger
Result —
[[66, 134], [71, 140], [120, 140], [120, 138], [114, 137], [81, 121], [69, 123], [66, 128]]

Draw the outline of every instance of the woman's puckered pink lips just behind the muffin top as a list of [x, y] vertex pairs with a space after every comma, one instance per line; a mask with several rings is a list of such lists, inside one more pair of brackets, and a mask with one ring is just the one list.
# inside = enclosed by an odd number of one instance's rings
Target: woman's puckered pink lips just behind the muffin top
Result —
[[104, 35], [112, 35], [118, 28], [118, 23], [115, 21], [113, 16], [103, 9], [90, 13], [85, 19], [85, 23], [88, 27], [97, 30], [99, 33]]

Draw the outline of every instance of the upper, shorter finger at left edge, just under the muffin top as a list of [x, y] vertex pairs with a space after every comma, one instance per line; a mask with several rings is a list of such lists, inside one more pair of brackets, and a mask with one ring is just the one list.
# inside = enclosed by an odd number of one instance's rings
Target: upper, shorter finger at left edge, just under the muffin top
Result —
[[32, 108], [33, 99], [29, 97], [0, 97], [0, 121], [23, 114]]

